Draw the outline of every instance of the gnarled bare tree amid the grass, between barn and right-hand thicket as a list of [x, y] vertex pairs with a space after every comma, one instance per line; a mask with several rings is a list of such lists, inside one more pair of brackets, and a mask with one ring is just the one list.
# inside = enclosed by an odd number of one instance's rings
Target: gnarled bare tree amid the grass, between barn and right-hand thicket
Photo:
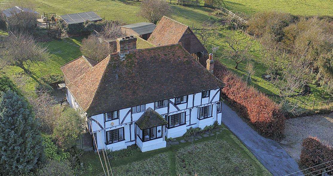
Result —
[[[246, 37], [238, 39], [235, 37], [235, 34], [227, 36], [226, 43], [229, 45], [230, 49], [228, 50], [228, 57], [230, 60], [233, 60], [236, 65], [235, 69], [238, 68], [238, 64], [244, 60], [251, 60], [252, 54], [249, 52], [250, 44], [246, 44], [244, 41]], [[244, 46], [245, 45], [245, 46]]]

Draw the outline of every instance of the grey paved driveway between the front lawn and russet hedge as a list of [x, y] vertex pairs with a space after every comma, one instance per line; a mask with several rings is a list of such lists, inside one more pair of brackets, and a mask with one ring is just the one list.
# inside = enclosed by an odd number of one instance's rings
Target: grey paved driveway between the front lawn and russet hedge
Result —
[[[222, 122], [253, 153], [274, 176], [284, 176], [299, 171], [296, 161], [274, 140], [262, 137], [249, 127], [227, 105], [222, 104]], [[302, 175], [302, 172], [290, 176]]]

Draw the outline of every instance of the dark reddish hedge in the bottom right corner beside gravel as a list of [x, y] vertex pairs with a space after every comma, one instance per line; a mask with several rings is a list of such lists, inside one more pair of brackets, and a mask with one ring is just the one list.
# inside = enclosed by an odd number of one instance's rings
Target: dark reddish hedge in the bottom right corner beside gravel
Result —
[[[325, 168], [329, 171], [327, 174], [333, 175], [333, 147], [323, 144], [317, 137], [308, 137], [303, 139], [302, 151], [300, 155], [300, 165], [307, 169], [306, 172], [320, 174]], [[328, 162], [331, 161], [331, 162]], [[328, 162], [328, 163], [325, 163]], [[325, 163], [325, 164], [323, 164]], [[319, 165], [321, 164], [321, 165]], [[316, 166], [319, 165], [319, 166]], [[316, 166], [316, 167], [313, 167]], [[327, 167], [327, 168], [326, 168]], [[319, 170], [319, 171], [317, 171]], [[315, 172], [316, 171], [316, 172]], [[304, 172], [305, 173], [305, 172]], [[321, 175], [321, 174], [320, 174]]]

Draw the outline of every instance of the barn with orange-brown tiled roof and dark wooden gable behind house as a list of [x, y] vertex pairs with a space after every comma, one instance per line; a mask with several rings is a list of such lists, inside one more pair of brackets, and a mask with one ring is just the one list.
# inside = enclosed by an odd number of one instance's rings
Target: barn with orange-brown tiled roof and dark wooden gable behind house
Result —
[[156, 46], [176, 44], [180, 42], [186, 51], [196, 59], [207, 54], [205, 47], [188, 26], [166, 16], [162, 17], [157, 24], [154, 32], [148, 39], [148, 42]]

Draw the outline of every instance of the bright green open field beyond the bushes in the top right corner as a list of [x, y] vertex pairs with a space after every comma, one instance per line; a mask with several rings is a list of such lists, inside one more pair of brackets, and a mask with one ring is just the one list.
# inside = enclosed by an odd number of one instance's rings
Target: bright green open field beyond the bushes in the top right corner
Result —
[[246, 14], [283, 11], [293, 15], [333, 15], [332, 0], [223, 0], [223, 7]]

